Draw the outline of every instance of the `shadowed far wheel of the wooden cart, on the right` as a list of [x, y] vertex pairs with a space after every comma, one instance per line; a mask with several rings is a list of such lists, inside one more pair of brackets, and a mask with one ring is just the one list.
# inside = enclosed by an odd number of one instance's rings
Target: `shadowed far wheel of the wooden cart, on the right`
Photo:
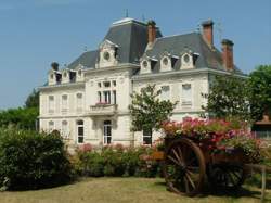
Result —
[[219, 191], [233, 191], [241, 188], [245, 181], [245, 170], [242, 164], [221, 163], [211, 165], [208, 179], [212, 188]]

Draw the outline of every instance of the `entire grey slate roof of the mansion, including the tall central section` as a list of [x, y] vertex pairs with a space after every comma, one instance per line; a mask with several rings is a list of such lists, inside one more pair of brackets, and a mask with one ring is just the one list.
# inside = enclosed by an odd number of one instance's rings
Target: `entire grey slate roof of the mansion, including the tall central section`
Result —
[[[176, 35], [169, 37], [162, 37], [159, 29], [156, 31], [156, 40], [152, 49], [145, 51], [147, 46], [147, 25], [132, 18], [125, 18], [114, 23], [103, 41], [109, 40], [118, 46], [117, 56], [119, 63], [139, 63], [143, 54], [160, 60], [165, 51], [172, 55], [180, 56], [186, 50], [198, 53], [199, 56], [195, 62], [196, 68], [216, 68], [224, 69], [222, 65], [222, 55], [216, 48], [211, 49], [203, 36], [198, 33], [191, 33], [185, 35]], [[99, 61], [99, 50], [88, 51], [82, 53], [78, 59], [68, 65], [68, 68], [75, 68], [78, 64], [87, 68], [94, 68]], [[173, 68], [180, 67], [181, 60], [175, 63]], [[153, 72], [159, 71], [159, 63], [156, 63]], [[242, 72], [235, 67], [236, 73]]]

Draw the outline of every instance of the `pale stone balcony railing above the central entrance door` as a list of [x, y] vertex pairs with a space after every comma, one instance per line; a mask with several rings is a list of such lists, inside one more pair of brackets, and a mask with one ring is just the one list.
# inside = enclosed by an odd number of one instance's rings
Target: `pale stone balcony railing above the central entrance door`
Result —
[[89, 114], [92, 116], [114, 115], [117, 113], [117, 104], [98, 103], [95, 105], [90, 106]]

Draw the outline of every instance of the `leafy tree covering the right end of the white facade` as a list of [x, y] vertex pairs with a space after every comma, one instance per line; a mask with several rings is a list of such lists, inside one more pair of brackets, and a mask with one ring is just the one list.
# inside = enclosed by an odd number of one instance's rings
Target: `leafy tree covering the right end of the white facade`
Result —
[[207, 94], [207, 105], [202, 106], [210, 117], [233, 118], [250, 122], [249, 91], [247, 79], [216, 76]]

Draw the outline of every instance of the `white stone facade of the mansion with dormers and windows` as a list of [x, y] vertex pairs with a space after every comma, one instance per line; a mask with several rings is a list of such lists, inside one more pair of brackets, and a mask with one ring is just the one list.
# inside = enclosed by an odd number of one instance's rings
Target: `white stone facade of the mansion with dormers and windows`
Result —
[[[197, 68], [193, 60], [202, 55], [191, 51], [166, 51], [159, 58], [143, 54], [138, 63], [121, 63], [119, 49], [121, 46], [104, 40], [94, 67], [78, 64], [73, 69], [49, 72], [48, 85], [40, 87], [40, 130], [56, 129], [69, 144], [142, 144], [143, 132], [130, 130], [128, 106], [133, 91], [155, 84], [162, 89], [162, 100], [178, 102], [172, 119], [182, 120], [203, 114], [202, 105], [207, 103], [203, 94], [209, 92], [211, 77], [229, 74]], [[153, 64], [159, 64], [159, 69], [154, 72]], [[159, 136], [155, 132], [153, 141]]]

